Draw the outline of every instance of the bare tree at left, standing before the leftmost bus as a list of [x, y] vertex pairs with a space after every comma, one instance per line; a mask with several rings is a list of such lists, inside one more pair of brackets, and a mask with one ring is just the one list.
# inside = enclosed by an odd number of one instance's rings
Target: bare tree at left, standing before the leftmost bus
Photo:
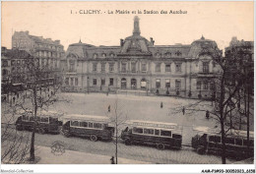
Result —
[[37, 123], [38, 111], [47, 110], [56, 101], [63, 100], [58, 95], [61, 82], [54, 77], [47, 62], [39, 63], [39, 59], [33, 56], [26, 60], [26, 74], [24, 82], [26, 88], [22, 98], [16, 102], [16, 107], [23, 110], [25, 113], [32, 112], [32, 138], [30, 149], [30, 160], [34, 161], [34, 137]]

